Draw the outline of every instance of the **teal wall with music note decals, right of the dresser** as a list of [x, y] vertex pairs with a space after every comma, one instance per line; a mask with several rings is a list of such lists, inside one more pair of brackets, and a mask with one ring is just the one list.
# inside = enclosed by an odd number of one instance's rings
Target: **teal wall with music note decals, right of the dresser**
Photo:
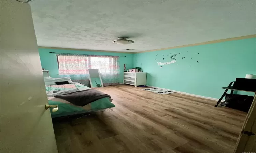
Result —
[[[158, 66], [180, 52], [176, 63]], [[256, 74], [256, 38], [139, 53], [133, 61], [147, 72], [147, 85], [219, 98], [230, 81]]]

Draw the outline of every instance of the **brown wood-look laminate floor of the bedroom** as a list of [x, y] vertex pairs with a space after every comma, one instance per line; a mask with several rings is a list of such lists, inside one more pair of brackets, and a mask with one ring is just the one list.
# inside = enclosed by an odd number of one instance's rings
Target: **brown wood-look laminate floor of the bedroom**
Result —
[[54, 121], [59, 153], [230, 153], [245, 112], [216, 101], [159, 95], [129, 85], [97, 88], [116, 105], [83, 118]]

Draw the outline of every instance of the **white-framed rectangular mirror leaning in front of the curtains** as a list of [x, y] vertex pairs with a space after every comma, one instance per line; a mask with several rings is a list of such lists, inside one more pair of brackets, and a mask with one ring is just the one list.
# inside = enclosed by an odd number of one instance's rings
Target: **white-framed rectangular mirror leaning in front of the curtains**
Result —
[[92, 88], [103, 87], [99, 69], [88, 69]]

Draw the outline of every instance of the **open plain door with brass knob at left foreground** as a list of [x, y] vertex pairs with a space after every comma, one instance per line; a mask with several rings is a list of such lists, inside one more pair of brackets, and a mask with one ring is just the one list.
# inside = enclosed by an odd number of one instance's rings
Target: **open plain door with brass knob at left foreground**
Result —
[[57, 153], [30, 5], [0, 5], [1, 153]]

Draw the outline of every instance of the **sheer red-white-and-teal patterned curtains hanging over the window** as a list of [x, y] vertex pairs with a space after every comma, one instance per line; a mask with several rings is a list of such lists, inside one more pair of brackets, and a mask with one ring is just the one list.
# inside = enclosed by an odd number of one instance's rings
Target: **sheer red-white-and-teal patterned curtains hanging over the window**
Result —
[[60, 77], [89, 86], [88, 69], [99, 69], [104, 86], [119, 84], [119, 57], [80, 54], [59, 54]]

